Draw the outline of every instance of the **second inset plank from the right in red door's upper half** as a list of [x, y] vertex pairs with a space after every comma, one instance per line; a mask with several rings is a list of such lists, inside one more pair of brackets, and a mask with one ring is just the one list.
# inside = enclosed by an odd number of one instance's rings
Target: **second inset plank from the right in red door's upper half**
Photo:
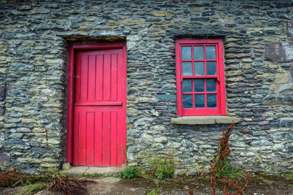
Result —
[[111, 55], [104, 56], [103, 99], [110, 99]]

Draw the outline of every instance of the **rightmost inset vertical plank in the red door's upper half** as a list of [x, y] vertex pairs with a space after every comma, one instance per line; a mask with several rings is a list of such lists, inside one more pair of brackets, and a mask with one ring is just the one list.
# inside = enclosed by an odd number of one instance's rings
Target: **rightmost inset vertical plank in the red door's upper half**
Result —
[[117, 100], [117, 54], [111, 56], [111, 100]]

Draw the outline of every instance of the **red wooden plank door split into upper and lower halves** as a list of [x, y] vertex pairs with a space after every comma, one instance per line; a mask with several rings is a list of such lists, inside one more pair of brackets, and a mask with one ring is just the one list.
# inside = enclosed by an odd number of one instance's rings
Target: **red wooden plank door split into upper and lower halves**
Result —
[[72, 164], [122, 166], [126, 144], [123, 49], [80, 50], [75, 56]]

